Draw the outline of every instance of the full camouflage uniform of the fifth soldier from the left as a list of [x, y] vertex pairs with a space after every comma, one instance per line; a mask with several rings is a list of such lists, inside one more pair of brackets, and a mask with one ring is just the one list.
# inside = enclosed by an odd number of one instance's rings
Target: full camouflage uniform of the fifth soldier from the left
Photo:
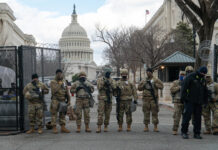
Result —
[[123, 79], [117, 81], [116, 86], [121, 90], [118, 125], [122, 126], [123, 116], [126, 113], [126, 123], [130, 126], [132, 124], [132, 112], [130, 109], [132, 99], [134, 98], [135, 101], [138, 99], [136, 87], [130, 81]]

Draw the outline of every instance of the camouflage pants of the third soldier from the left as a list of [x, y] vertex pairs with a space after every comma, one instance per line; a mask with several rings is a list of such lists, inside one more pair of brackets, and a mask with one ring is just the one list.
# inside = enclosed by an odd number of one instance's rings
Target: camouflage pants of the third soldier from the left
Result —
[[85, 124], [89, 124], [90, 122], [90, 108], [89, 108], [89, 100], [88, 99], [77, 99], [76, 100], [76, 124], [81, 125], [82, 120], [82, 111], [84, 115], [84, 122]]

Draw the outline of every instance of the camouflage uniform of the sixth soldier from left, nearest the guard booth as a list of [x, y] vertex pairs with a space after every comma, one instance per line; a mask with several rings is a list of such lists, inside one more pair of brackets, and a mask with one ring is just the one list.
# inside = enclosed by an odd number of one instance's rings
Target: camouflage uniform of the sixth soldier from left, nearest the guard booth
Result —
[[[157, 99], [157, 104], [154, 101], [153, 96], [151, 95], [151, 92], [149, 91], [149, 84], [147, 81], [150, 81], [152, 84], [152, 87], [154, 89], [154, 94]], [[145, 80], [142, 80], [138, 85], [138, 90], [143, 91], [143, 106], [142, 111], [144, 112], [144, 124], [148, 125], [150, 123], [150, 112], [152, 112], [152, 123], [154, 125], [157, 125], [159, 123], [158, 120], [158, 89], [163, 89], [163, 83], [155, 78], [146, 78]]]

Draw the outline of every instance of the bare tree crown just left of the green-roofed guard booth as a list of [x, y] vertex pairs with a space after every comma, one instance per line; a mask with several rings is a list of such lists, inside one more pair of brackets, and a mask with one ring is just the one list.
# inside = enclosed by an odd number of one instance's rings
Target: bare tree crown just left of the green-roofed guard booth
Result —
[[139, 46], [135, 51], [137, 59], [146, 63], [149, 67], [154, 66], [164, 57], [171, 54], [171, 50], [166, 49], [169, 43], [170, 34], [166, 34], [160, 27], [151, 27], [148, 31], [137, 30], [135, 32], [136, 45]]

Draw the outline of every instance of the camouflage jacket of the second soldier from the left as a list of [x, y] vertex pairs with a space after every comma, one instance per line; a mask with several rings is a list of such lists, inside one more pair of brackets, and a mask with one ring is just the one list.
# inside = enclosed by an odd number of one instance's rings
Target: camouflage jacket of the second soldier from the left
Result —
[[67, 99], [68, 103], [70, 102], [70, 94], [65, 80], [57, 80], [56, 78], [51, 81], [51, 99], [58, 101], [65, 101]]

